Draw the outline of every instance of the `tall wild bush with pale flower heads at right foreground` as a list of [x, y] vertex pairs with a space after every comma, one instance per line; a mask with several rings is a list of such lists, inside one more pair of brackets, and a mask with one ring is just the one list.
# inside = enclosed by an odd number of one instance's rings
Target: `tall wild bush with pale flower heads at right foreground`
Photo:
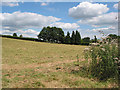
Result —
[[118, 78], [118, 40], [106, 37], [97, 46], [85, 49], [89, 73], [99, 80]]

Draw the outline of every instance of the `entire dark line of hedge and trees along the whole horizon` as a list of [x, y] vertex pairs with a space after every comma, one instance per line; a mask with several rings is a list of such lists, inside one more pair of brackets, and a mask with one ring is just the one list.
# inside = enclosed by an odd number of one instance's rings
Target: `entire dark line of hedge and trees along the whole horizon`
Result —
[[[120, 36], [116, 34], [109, 34], [109, 37], [118, 38], [120, 42]], [[72, 45], [89, 45], [90, 43], [97, 43], [98, 39], [94, 36], [94, 39], [90, 39], [90, 37], [81, 38], [80, 33], [76, 31], [72, 31], [70, 35], [67, 32], [67, 35], [64, 34], [64, 31], [61, 28], [57, 27], [44, 27], [40, 33], [37, 35], [37, 38], [29, 38], [23, 37], [21, 34], [20, 36], [17, 33], [13, 33], [11, 35], [0, 35], [0, 37], [7, 37], [7, 38], [14, 38], [14, 39], [22, 39], [22, 40], [30, 40], [30, 41], [37, 41], [37, 42], [51, 42], [51, 43], [62, 43], [62, 44], [72, 44]]]

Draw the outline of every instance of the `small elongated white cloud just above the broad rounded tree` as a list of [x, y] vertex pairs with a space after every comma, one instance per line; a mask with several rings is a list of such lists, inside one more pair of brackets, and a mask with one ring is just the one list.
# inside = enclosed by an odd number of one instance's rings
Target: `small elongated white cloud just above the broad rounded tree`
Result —
[[63, 22], [55, 22], [53, 24], [50, 24], [50, 26], [56, 26], [59, 28], [62, 28], [63, 30], [76, 30], [80, 26], [76, 23], [63, 23]]

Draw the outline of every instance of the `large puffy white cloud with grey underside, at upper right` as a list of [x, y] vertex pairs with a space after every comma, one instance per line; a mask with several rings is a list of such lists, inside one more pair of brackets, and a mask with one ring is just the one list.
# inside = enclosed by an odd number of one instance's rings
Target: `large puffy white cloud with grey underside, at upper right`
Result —
[[104, 4], [81, 2], [78, 6], [69, 9], [69, 16], [75, 19], [86, 19], [106, 13], [108, 10], [109, 8]]

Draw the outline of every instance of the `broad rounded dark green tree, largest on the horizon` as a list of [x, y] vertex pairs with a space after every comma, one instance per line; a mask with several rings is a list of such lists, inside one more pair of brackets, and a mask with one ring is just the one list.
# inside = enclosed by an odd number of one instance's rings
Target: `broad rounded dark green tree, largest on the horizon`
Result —
[[45, 42], [64, 42], [64, 32], [61, 28], [44, 27], [38, 35], [38, 39]]

